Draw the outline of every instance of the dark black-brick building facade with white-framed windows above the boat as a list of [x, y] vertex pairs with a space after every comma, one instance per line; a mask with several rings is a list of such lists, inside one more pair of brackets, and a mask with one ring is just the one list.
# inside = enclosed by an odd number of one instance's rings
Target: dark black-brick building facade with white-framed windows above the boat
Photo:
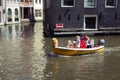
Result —
[[45, 29], [52, 34], [57, 24], [59, 32], [120, 29], [119, 0], [46, 0], [44, 5]]

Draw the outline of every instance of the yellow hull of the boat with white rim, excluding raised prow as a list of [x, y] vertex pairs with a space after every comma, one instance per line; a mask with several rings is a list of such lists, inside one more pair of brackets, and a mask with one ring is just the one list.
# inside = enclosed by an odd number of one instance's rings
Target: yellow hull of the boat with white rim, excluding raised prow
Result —
[[104, 46], [94, 47], [94, 48], [66, 48], [66, 47], [56, 47], [53, 49], [54, 54], [57, 55], [83, 55], [95, 52], [104, 51]]

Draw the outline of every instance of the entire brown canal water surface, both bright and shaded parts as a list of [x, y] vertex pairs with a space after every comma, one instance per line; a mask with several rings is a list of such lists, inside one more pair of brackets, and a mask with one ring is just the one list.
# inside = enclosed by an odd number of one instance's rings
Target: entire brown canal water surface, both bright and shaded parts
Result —
[[[42, 23], [0, 26], [0, 80], [120, 80], [119, 36], [90, 36], [105, 39], [101, 53], [50, 57]], [[58, 37], [60, 46], [68, 39]]]

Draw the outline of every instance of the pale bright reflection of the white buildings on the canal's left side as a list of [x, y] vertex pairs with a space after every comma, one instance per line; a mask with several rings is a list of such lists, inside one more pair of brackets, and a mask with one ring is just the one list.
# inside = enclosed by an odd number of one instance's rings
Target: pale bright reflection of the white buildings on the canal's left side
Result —
[[42, 24], [15, 24], [0, 27], [0, 79], [43, 78], [46, 58]]

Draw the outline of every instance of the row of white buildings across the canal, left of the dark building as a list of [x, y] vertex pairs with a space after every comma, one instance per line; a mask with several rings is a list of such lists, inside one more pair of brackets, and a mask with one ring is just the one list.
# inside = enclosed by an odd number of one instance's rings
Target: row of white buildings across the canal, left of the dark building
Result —
[[0, 0], [0, 25], [43, 20], [43, 0]]

